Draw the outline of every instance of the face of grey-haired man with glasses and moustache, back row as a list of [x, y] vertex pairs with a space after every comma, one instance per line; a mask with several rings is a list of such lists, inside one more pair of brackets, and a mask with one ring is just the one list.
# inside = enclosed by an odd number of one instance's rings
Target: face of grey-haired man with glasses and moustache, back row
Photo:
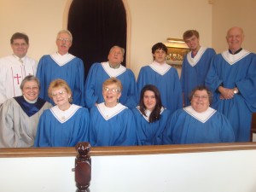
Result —
[[65, 55], [68, 52], [68, 49], [71, 47], [72, 42], [67, 33], [61, 33], [56, 39], [56, 45], [58, 47], [58, 53]]

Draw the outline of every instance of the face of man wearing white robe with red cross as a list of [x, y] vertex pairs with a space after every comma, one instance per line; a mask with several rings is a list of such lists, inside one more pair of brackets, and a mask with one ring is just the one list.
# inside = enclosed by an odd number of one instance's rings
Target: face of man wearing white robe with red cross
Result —
[[26, 44], [26, 41], [23, 38], [14, 39], [11, 47], [14, 51], [14, 54], [20, 58], [26, 55], [27, 49], [29, 48], [29, 44]]

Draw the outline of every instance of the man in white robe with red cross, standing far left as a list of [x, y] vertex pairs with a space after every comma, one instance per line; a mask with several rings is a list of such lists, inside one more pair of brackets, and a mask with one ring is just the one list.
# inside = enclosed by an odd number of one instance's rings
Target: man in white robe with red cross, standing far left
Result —
[[25, 33], [15, 32], [10, 39], [13, 54], [0, 59], [0, 105], [7, 99], [21, 96], [21, 81], [35, 75], [38, 62], [26, 55], [29, 39]]

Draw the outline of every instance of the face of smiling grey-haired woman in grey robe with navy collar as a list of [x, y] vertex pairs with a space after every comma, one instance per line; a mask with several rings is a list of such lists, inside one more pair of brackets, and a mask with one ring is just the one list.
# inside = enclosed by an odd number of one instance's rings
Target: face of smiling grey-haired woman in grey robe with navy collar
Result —
[[22, 89], [23, 96], [29, 101], [34, 101], [38, 98], [39, 86], [37, 81], [27, 81]]

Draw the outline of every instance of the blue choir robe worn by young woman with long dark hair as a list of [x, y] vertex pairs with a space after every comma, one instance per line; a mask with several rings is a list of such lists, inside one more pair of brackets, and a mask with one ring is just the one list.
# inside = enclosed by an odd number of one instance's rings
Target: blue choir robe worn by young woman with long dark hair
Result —
[[[148, 117], [141, 113], [139, 106], [133, 108], [137, 124], [138, 145], [161, 145], [161, 133], [166, 128], [167, 120], [171, 113], [166, 108], [161, 108], [160, 119], [149, 123]], [[149, 116], [149, 115], [148, 115]]]

